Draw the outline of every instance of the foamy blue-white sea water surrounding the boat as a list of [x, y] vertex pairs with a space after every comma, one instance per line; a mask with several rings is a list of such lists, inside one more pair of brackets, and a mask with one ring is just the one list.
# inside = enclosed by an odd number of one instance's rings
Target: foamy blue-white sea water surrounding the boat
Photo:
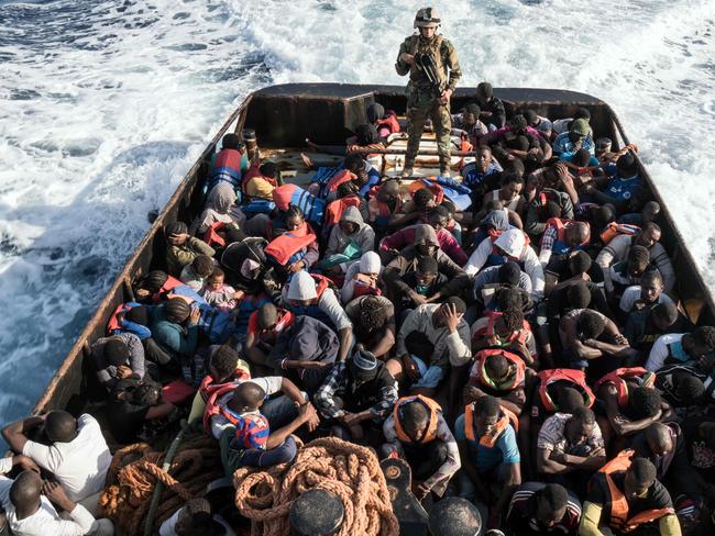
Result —
[[[207, 141], [252, 90], [403, 85], [424, 2], [0, 0], [0, 423], [26, 414]], [[715, 284], [715, 2], [433, 2], [463, 87], [607, 101]]]

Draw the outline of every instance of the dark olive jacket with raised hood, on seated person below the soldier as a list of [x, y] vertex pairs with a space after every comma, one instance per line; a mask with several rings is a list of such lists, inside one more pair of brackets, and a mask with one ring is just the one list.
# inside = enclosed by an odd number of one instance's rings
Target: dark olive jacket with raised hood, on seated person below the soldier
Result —
[[406, 247], [403, 252], [395, 257], [386, 267], [383, 273], [383, 280], [387, 288], [396, 294], [403, 297], [411, 290], [409, 284], [403, 281], [403, 276], [408, 271], [417, 269], [417, 263], [422, 256], [417, 246], [427, 245], [437, 247], [437, 252], [432, 255], [437, 260], [437, 268], [440, 273], [449, 278], [449, 282], [441, 289], [442, 297], [458, 294], [462, 289], [469, 286], [469, 277], [462, 268], [454, 264], [442, 249], [439, 247], [437, 233], [430, 225], [417, 225], [415, 230], [415, 242], [411, 246]]

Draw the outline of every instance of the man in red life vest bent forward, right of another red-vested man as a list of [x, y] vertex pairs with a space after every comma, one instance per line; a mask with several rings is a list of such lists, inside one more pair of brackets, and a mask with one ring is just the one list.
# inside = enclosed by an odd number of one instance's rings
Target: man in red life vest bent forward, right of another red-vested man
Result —
[[607, 421], [601, 429], [609, 439], [646, 429], [656, 421], [672, 416], [672, 409], [653, 388], [656, 375], [641, 367], [619, 368], [601, 378], [594, 386], [603, 401]]

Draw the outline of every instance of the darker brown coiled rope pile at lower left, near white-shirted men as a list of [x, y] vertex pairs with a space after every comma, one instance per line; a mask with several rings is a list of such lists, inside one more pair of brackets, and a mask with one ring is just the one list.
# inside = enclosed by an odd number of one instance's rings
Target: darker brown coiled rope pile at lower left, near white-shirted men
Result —
[[157, 482], [165, 490], [153, 520], [154, 527], [186, 501], [200, 496], [210, 481], [222, 476], [216, 442], [208, 438], [187, 440], [170, 460], [167, 471], [162, 469], [163, 461], [164, 454], [152, 451], [146, 444], [130, 445], [114, 455], [99, 505], [121, 534], [141, 533]]

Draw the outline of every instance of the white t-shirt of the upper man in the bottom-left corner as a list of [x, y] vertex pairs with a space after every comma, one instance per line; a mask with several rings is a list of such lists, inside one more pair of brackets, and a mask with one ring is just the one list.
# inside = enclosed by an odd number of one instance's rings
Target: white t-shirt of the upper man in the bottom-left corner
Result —
[[50, 447], [28, 442], [22, 454], [51, 471], [73, 502], [103, 490], [107, 470], [112, 462], [99, 423], [87, 413], [77, 420], [77, 437], [72, 442], [55, 443]]

